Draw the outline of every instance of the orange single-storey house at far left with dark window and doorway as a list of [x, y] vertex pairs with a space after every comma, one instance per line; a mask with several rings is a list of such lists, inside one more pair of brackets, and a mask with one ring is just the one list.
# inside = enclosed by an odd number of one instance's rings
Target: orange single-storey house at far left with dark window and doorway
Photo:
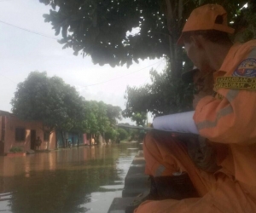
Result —
[[56, 148], [55, 132], [45, 133], [41, 121], [20, 120], [12, 113], [0, 110], [0, 155], [9, 153], [12, 147], [35, 150], [38, 136], [42, 140], [41, 150]]

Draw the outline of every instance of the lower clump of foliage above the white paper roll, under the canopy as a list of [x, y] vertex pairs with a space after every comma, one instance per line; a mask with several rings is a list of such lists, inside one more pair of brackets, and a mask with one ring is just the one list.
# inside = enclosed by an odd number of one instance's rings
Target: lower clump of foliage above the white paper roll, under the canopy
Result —
[[152, 112], [157, 116], [192, 109], [191, 86], [183, 83], [181, 79], [170, 77], [168, 70], [168, 67], [162, 73], [152, 70], [151, 84], [148, 83], [141, 88], [127, 87], [124, 117], [134, 118], [134, 115], [141, 112]]

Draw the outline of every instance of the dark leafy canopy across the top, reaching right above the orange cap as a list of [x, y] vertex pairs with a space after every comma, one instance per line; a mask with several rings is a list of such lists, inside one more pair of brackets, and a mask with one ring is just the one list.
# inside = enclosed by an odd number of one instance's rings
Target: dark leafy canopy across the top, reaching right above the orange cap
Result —
[[[138, 59], [166, 56], [172, 72], [180, 72], [182, 49], [177, 47], [183, 24], [190, 12], [201, 4], [219, 3], [234, 18], [248, 1], [233, 0], [39, 0], [50, 5], [44, 21], [50, 22], [55, 35], [61, 34], [63, 49], [74, 55], [90, 55], [96, 64], [119, 66]], [[139, 28], [137, 32], [132, 29]], [[174, 70], [175, 69], [175, 70]], [[177, 71], [176, 71], [177, 69]]]

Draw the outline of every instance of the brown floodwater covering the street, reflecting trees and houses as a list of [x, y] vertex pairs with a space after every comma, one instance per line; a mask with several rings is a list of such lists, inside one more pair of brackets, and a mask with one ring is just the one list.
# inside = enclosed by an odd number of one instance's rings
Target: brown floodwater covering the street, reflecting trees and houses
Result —
[[107, 213], [121, 197], [139, 144], [73, 147], [0, 157], [0, 212]]

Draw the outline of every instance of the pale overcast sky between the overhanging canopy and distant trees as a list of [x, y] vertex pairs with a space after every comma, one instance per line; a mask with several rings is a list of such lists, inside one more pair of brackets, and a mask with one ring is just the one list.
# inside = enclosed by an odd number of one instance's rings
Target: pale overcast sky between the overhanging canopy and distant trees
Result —
[[36, 70], [62, 78], [86, 100], [124, 109], [126, 86], [149, 83], [149, 70], [160, 72], [165, 66], [165, 61], [159, 59], [140, 61], [129, 69], [112, 68], [94, 65], [90, 57], [74, 56], [72, 49], [62, 49], [50, 23], [44, 23], [43, 14], [49, 9], [38, 0], [0, 0], [0, 110], [11, 112], [9, 102], [17, 83]]

